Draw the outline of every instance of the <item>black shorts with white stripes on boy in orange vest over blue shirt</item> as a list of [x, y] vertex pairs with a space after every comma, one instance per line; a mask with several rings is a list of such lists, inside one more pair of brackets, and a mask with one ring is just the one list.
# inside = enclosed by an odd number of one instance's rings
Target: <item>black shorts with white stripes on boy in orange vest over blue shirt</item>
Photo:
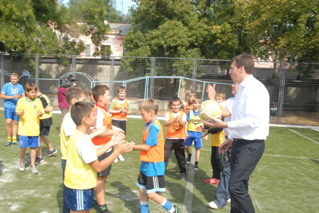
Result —
[[139, 188], [146, 190], [146, 194], [151, 194], [154, 192], [166, 192], [163, 175], [148, 177], [140, 171], [136, 185]]

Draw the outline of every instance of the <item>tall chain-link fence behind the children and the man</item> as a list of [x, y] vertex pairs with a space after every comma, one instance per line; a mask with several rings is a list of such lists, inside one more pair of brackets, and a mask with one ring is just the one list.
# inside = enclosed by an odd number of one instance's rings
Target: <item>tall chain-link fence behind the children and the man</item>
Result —
[[[224, 91], [226, 98], [232, 97], [229, 66], [229, 60], [0, 53], [0, 80], [2, 88], [10, 82], [11, 73], [20, 76], [25, 68], [31, 77], [20, 83], [36, 84], [56, 109], [61, 78], [73, 76], [87, 92], [95, 85], [105, 84], [113, 97], [119, 86], [125, 86], [133, 113], [138, 113], [146, 98], [153, 98], [159, 102], [159, 114], [163, 115], [173, 96], [187, 101], [192, 91], [207, 100], [207, 84], [216, 84], [216, 90]], [[319, 125], [318, 63], [256, 61], [254, 76], [269, 91], [271, 123]]]

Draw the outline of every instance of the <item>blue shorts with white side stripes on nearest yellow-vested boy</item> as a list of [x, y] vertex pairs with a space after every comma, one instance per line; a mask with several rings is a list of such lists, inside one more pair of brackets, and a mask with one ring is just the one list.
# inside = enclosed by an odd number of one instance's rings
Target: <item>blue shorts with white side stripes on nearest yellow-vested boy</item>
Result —
[[94, 189], [70, 189], [64, 186], [66, 207], [72, 211], [91, 210], [93, 208]]

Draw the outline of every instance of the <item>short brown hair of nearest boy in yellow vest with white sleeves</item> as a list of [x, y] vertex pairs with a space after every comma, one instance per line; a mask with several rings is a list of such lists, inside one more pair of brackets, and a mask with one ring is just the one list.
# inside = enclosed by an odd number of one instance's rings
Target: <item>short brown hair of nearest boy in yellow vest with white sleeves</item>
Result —
[[76, 125], [82, 123], [83, 117], [90, 117], [94, 106], [88, 102], [77, 102], [71, 107], [71, 118]]

